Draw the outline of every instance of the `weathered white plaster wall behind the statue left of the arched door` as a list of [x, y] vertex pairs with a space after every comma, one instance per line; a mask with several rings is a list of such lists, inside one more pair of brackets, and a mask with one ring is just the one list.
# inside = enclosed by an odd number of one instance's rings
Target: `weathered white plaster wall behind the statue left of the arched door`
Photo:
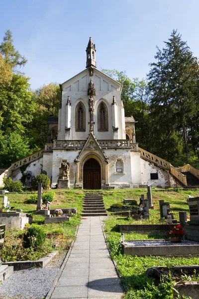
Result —
[[61, 167], [62, 160], [67, 160], [70, 163], [70, 185], [73, 186], [76, 180], [76, 163], [79, 150], [54, 150], [53, 151], [53, 175], [52, 184], [56, 185], [59, 178], [59, 167]]

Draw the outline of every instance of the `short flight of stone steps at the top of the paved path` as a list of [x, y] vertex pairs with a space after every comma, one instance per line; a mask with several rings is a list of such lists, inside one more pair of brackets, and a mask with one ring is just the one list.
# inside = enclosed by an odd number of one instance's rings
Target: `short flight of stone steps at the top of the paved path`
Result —
[[86, 193], [83, 200], [82, 216], [107, 216], [102, 193]]

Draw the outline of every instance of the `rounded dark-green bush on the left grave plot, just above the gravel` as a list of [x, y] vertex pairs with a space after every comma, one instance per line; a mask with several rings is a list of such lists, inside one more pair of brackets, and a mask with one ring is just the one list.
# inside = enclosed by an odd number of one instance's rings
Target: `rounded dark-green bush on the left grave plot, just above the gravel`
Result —
[[46, 240], [46, 234], [43, 229], [37, 224], [32, 224], [30, 228], [23, 235], [23, 247], [33, 248], [36, 250], [41, 247]]

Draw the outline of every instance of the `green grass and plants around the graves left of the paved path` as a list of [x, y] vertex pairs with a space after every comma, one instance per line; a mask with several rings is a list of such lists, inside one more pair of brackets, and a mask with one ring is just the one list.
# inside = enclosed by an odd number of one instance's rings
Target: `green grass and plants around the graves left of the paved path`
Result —
[[[83, 205], [83, 190], [55, 190], [55, 200], [51, 204], [51, 208], [64, 208], [64, 207], [76, 207], [77, 215], [72, 215], [70, 221], [63, 223], [48, 223], [44, 224], [44, 216], [35, 215], [37, 204], [27, 203], [27, 199], [31, 194], [7, 194], [9, 205], [13, 206], [14, 209], [22, 209], [23, 212], [31, 214], [33, 217], [33, 223], [37, 223], [42, 226], [44, 232], [48, 233], [60, 233], [63, 234], [59, 238], [59, 248], [62, 250], [68, 250], [71, 242], [75, 239], [75, 233], [77, 226], [80, 224], [80, 215]], [[35, 192], [36, 194], [36, 192]], [[0, 200], [2, 195], [0, 196]], [[46, 240], [45, 248], [36, 251], [23, 250], [20, 247], [19, 238], [20, 235], [25, 232], [29, 225], [26, 225], [24, 230], [6, 230], [7, 245], [5, 248], [0, 249], [0, 256], [6, 258], [9, 261], [25, 260], [27, 258], [39, 259], [49, 252], [54, 250], [54, 245], [57, 243], [56, 240]], [[12, 248], [12, 245], [18, 244], [19, 246]], [[7, 247], [7, 249], [6, 249]]]

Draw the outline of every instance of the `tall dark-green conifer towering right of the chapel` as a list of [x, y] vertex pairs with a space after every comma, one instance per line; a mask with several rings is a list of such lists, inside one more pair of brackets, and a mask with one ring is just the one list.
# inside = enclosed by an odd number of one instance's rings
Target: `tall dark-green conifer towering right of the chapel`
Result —
[[182, 153], [183, 138], [189, 155], [186, 125], [197, 111], [198, 68], [196, 58], [177, 30], [165, 44], [162, 50], [157, 47], [156, 62], [150, 64], [147, 77], [154, 150], [166, 152], [166, 158], [172, 159]]

